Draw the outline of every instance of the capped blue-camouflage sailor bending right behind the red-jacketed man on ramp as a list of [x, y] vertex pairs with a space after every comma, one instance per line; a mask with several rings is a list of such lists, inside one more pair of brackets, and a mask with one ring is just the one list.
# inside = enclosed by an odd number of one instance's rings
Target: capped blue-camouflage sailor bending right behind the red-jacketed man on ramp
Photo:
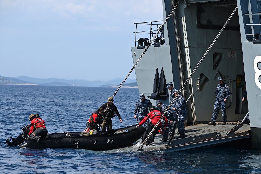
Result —
[[[156, 101], [156, 106], [159, 108], [159, 111], [164, 113], [166, 109], [168, 108], [168, 105], [162, 104], [161, 100]], [[169, 140], [174, 139], [174, 134], [175, 134], [175, 129], [176, 129], [176, 122], [174, 122], [174, 118], [172, 114], [170, 113], [170, 110], [168, 110], [165, 114], [165, 117], [168, 118], [168, 126], [165, 131], [163, 131], [163, 142], [168, 142], [168, 135], [170, 135]], [[163, 119], [161, 120], [162, 122], [164, 121]], [[163, 125], [163, 124], [162, 124]]]

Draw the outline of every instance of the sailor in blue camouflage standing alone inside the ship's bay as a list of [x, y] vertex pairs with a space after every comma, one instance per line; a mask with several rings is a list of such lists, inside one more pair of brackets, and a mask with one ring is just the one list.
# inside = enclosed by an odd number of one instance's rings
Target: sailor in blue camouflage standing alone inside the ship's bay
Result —
[[216, 125], [217, 115], [222, 111], [223, 123], [227, 124], [227, 98], [230, 96], [230, 89], [226, 83], [223, 82], [222, 77], [218, 77], [218, 85], [216, 90], [216, 102], [213, 109], [211, 122], [209, 125]]

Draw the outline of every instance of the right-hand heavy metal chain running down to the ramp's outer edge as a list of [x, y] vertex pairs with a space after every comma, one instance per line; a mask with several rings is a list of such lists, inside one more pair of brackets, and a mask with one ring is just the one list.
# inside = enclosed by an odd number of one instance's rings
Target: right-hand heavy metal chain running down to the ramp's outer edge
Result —
[[170, 109], [170, 107], [174, 104], [174, 101], [177, 99], [177, 97], [179, 96], [180, 92], [184, 89], [185, 85], [188, 83], [189, 79], [191, 79], [192, 75], [194, 74], [194, 72], [196, 71], [196, 69], [198, 68], [198, 66], [200, 65], [200, 63], [203, 61], [203, 59], [205, 58], [205, 56], [207, 55], [207, 53], [209, 52], [209, 50], [211, 49], [211, 47], [213, 46], [213, 44], [216, 42], [217, 38], [220, 36], [220, 34], [223, 32], [224, 28], [227, 26], [228, 22], [230, 21], [230, 19], [232, 18], [232, 16], [235, 14], [236, 10], [238, 9], [238, 6], [236, 6], [235, 10], [232, 12], [232, 14], [230, 15], [230, 17], [228, 18], [228, 20], [226, 21], [226, 23], [224, 24], [224, 26], [221, 28], [220, 32], [217, 34], [216, 38], [213, 40], [213, 42], [211, 43], [211, 45], [209, 46], [209, 48], [207, 49], [207, 51], [205, 52], [205, 54], [203, 55], [203, 57], [200, 59], [200, 61], [198, 62], [198, 65], [194, 68], [194, 70], [191, 72], [190, 76], [188, 77], [188, 79], [186, 80], [186, 82], [182, 85], [182, 87], [180, 88], [179, 92], [177, 92], [177, 95], [174, 97], [174, 99], [171, 101], [171, 103], [169, 104], [169, 106], [167, 107], [167, 109], [165, 110], [165, 112], [162, 114], [161, 118], [159, 119], [159, 121], [156, 123], [156, 125], [153, 127], [152, 131], [149, 133], [149, 135], [146, 137], [146, 139], [143, 141], [143, 143], [141, 143], [139, 149], [137, 151], [141, 151], [144, 144], [147, 142], [147, 140], [149, 139], [149, 137], [151, 136], [151, 134], [153, 133], [153, 131], [156, 129], [156, 127], [158, 126], [158, 124], [161, 122], [161, 119], [164, 117], [164, 115], [167, 113], [167, 111]]

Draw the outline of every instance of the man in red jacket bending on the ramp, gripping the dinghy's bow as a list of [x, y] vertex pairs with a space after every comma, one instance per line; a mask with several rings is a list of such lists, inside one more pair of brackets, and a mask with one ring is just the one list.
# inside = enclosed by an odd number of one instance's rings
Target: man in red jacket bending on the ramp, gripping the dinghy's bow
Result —
[[[159, 121], [159, 119], [161, 118], [163, 113], [161, 113], [159, 111], [159, 109], [156, 109], [155, 106], [151, 106], [150, 107], [150, 113], [147, 114], [144, 119], [136, 126], [136, 127], [139, 127], [141, 125], [143, 125], [144, 123], [146, 123], [146, 121], [150, 118], [151, 119], [151, 122], [148, 124], [147, 128], [146, 128], [146, 131], [144, 132], [143, 134], [143, 137], [142, 137], [142, 142], [146, 139], [147, 135], [152, 131], [153, 127], [157, 124], [157, 122]], [[168, 126], [168, 119], [167, 117], [163, 117], [163, 119], [165, 120], [165, 124], [164, 124], [164, 127], [163, 127], [163, 130], [166, 130], [167, 129], [167, 126]], [[152, 135], [150, 136], [149, 138], [149, 141], [147, 142], [146, 146], [149, 145], [151, 142], [154, 142], [154, 137], [156, 134], [158, 134], [158, 130], [159, 128], [161, 128], [161, 122], [159, 122], [158, 126], [156, 127], [156, 129], [153, 131]]]

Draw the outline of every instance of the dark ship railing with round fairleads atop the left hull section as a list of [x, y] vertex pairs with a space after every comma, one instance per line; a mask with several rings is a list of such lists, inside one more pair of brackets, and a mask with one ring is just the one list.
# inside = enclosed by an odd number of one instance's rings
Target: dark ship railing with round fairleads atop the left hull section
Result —
[[[159, 22], [163, 21], [150, 21], [150, 22], [137, 22], [134, 23], [136, 25], [135, 29], [135, 47], [139, 45], [139, 42], [142, 42], [141, 45], [147, 46], [148, 43], [151, 42], [152, 38], [158, 31], [158, 28], [162, 25]], [[139, 28], [139, 30], [138, 30]], [[149, 30], [148, 30], [149, 29]], [[155, 39], [152, 45], [156, 44], [164, 44], [164, 28], [159, 33], [159, 37]]]

